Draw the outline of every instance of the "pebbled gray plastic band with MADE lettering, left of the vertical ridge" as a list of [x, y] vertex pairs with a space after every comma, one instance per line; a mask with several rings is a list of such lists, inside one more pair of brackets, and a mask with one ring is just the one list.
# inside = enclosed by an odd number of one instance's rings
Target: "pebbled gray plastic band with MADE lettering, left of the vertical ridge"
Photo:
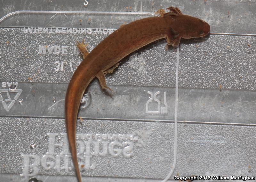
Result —
[[[23, 29], [2, 28], [0, 31], [3, 62], [1, 81], [69, 83], [81, 55], [73, 54], [76, 40], [85, 39], [88, 49], [103, 40], [105, 34], [36, 34], [23, 33]], [[17, 39], [19, 37], [19, 39]], [[68, 46], [67, 55], [39, 54], [40, 46]], [[107, 79], [108, 84], [175, 86], [176, 48], [165, 51], [166, 40], [143, 47], [123, 60], [115, 74]], [[67, 62], [63, 71], [55, 71], [56, 61]], [[73, 71], [70, 69], [72, 63]], [[29, 69], [28, 69], [29, 67]], [[12, 70], [12, 71], [10, 71]], [[165, 71], [163, 71], [165, 70]], [[33, 78], [33, 80], [29, 79]], [[164, 79], [163, 79], [164, 78]]]

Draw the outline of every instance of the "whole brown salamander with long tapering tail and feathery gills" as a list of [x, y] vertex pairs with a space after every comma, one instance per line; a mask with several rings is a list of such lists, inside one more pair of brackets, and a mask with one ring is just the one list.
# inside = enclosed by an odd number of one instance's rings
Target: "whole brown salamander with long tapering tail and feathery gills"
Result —
[[76, 121], [81, 98], [94, 77], [102, 89], [112, 91], [105, 80], [106, 71], [126, 55], [158, 39], [167, 38], [167, 44], [177, 46], [180, 38], [203, 37], [210, 32], [210, 25], [199, 18], [183, 15], [179, 8], [169, 7], [170, 12], [161, 17], [136, 20], [124, 25], [102, 40], [89, 54], [84, 43], [77, 46], [84, 61], [72, 76], [65, 98], [65, 117], [72, 160], [79, 182], [82, 182], [76, 154]]

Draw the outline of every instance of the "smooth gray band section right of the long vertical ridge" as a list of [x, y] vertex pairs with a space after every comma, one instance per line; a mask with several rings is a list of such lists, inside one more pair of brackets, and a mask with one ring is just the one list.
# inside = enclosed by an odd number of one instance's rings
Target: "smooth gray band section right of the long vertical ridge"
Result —
[[179, 89], [178, 120], [256, 124], [255, 92]]

